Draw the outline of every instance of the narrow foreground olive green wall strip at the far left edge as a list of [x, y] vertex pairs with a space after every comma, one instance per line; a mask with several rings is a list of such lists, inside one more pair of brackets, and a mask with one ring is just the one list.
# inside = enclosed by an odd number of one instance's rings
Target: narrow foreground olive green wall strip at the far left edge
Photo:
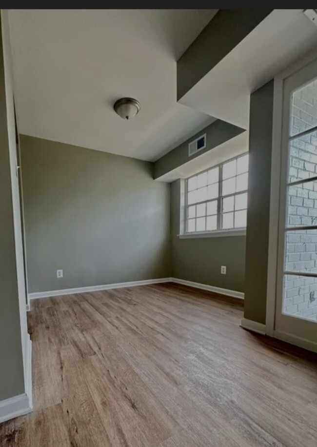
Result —
[[[5, 20], [3, 20], [5, 19]], [[10, 149], [15, 150], [6, 14], [0, 23], [0, 401], [25, 392]], [[2, 41], [3, 33], [3, 41]], [[5, 39], [6, 38], [6, 39]], [[13, 140], [12, 140], [13, 135]], [[10, 145], [13, 145], [10, 147]], [[24, 303], [25, 308], [25, 303]], [[24, 315], [25, 319], [25, 315]]]

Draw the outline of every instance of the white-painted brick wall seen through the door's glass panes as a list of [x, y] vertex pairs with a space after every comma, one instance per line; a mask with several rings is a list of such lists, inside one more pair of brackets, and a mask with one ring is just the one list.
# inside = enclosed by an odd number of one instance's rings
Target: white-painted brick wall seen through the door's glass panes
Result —
[[[317, 81], [293, 95], [291, 135], [317, 125]], [[317, 132], [290, 142], [289, 182], [317, 176]], [[317, 182], [289, 188], [287, 225], [317, 225]], [[317, 273], [317, 230], [289, 231], [285, 269]], [[285, 275], [283, 312], [317, 321], [317, 278]]]

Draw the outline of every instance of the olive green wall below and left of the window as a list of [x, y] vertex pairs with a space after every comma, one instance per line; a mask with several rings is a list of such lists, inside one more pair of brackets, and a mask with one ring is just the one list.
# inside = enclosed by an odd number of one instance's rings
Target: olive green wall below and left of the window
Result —
[[[244, 291], [245, 236], [179, 239], [180, 181], [171, 184], [172, 276]], [[227, 274], [220, 274], [220, 266]]]

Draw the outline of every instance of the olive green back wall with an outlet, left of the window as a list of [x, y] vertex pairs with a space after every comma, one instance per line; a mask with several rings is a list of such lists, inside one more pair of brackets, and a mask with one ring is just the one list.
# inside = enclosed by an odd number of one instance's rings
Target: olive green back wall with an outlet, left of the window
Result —
[[20, 142], [29, 293], [171, 276], [170, 185], [153, 163]]

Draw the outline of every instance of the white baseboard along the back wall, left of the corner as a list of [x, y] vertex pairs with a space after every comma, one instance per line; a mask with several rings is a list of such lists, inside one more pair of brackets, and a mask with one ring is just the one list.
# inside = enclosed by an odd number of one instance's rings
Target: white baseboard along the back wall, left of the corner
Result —
[[47, 297], [51, 297], [51, 296], [71, 295], [73, 293], [96, 292], [98, 290], [117, 289], [117, 288], [121, 288], [121, 287], [134, 287], [136, 285], [168, 283], [171, 281], [172, 281], [172, 278], [158, 278], [158, 279], [153, 279], [153, 280], [131, 281], [128, 283], [91, 285], [88, 287], [76, 287], [74, 289], [50, 290], [50, 291], [46, 291], [46, 292], [29, 293], [28, 299], [34, 300], [36, 298], [47, 298]]

